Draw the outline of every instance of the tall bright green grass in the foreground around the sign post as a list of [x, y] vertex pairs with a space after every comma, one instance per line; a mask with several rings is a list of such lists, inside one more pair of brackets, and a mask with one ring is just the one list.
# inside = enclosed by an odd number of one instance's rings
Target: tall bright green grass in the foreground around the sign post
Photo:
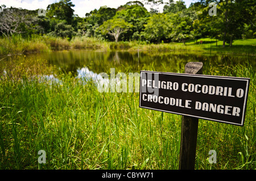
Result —
[[[139, 108], [138, 93], [100, 93], [43, 60], [24, 56], [0, 69], [0, 169], [178, 169], [181, 116]], [[199, 121], [195, 169], [256, 169], [255, 69], [209, 71], [251, 78], [250, 92], [243, 127]], [[46, 74], [59, 82], [40, 78]]]

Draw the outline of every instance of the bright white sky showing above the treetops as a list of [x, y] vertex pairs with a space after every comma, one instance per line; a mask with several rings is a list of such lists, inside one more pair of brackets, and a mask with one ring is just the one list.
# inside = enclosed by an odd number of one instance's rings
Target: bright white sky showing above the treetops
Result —
[[[85, 17], [87, 12], [94, 9], [100, 9], [101, 6], [108, 6], [117, 9], [117, 7], [125, 5], [129, 1], [135, 0], [71, 0], [73, 5], [75, 5], [75, 7], [73, 7], [73, 10], [75, 10], [74, 14], [79, 15], [81, 18]], [[0, 5], [6, 5], [6, 7], [21, 7], [22, 9], [27, 10], [46, 10], [48, 5], [55, 2], [59, 2], [59, 0], [0, 0]], [[164, 0], [164, 2], [168, 2], [168, 0]], [[191, 2], [195, 2], [195, 0], [184, 0], [184, 2], [188, 7]], [[163, 10], [163, 6], [164, 5], [154, 7], [154, 9], [158, 9], [161, 12]], [[144, 7], [149, 11], [151, 6], [144, 5]]]

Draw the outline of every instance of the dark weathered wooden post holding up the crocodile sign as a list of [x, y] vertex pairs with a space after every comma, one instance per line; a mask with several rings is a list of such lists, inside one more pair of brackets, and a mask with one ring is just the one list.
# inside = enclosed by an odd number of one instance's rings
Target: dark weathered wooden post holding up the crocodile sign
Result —
[[[188, 62], [185, 74], [203, 74], [202, 62]], [[196, 141], [198, 118], [182, 116], [180, 141], [180, 170], [194, 170], [196, 161]]]

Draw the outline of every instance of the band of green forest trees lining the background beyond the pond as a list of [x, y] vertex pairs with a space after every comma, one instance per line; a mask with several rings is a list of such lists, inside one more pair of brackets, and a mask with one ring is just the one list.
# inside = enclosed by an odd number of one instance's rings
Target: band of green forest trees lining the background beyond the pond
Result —
[[[216, 5], [216, 16], [210, 16], [209, 4]], [[159, 5], [163, 1], [143, 3]], [[235, 39], [255, 39], [256, 16], [254, 0], [198, 0], [187, 8], [184, 1], [170, 0], [163, 12], [148, 11], [140, 1], [131, 1], [117, 9], [102, 6], [81, 18], [74, 14], [70, 0], [48, 5], [46, 14], [39, 10], [0, 8], [0, 36], [10, 38], [33, 35], [63, 37], [96, 37], [106, 41], [141, 41], [170, 43], [197, 40], [202, 37], [221, 40], [232, 46]]]

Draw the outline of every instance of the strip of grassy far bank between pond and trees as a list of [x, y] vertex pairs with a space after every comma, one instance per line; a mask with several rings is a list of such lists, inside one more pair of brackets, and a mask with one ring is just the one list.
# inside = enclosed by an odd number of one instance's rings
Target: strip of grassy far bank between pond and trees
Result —
[[[199, 42], [203, 41], [203, 44]], [[144, 52], [175, 52], [175, 51], [192, 51], [192, 52], [211, 52], [211, 53], [233, 53], [233, 54], [255, 54], [256, 39], [234, 40], [233, 46], [226, 44], [222, 48], [222, 41], [204, 38], [187, 41], [183, 43], [162, 43], [146, 44], [145, 42], [130, 41], [118, 43], [98, 40], [93, 37], [73, 37], [71, 40], [60, 37], [48, 37], [34, 35], [30, 38], [23, 39], [21, 36], [13, 36], [10, 39], [0, 39], [0, 57], [20, 54], [20, 53], [39, 53], [51, 50], [68, 50], [68, 49], [100, 49], [100, 50], [128, 50], [137, 51], [138, 48]]]

